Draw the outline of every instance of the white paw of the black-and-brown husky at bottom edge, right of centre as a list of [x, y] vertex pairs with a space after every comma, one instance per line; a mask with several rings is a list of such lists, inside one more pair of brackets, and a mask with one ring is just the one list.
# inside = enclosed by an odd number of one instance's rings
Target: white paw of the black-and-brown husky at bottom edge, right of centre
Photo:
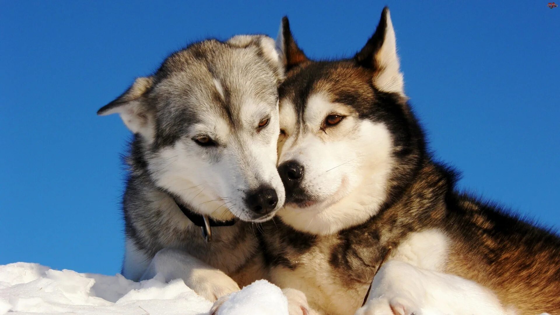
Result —
[[422, 315], [413, 303], [405, 298], [376, 298], [367, 301], [366, 305], [354, 315]]

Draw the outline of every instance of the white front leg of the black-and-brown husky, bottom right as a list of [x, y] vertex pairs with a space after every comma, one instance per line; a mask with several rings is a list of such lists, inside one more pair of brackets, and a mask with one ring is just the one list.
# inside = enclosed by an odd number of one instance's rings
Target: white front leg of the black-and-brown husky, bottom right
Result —
[[386, 262], [355, 315], [510, 315], [492, 291], [450, 274]]

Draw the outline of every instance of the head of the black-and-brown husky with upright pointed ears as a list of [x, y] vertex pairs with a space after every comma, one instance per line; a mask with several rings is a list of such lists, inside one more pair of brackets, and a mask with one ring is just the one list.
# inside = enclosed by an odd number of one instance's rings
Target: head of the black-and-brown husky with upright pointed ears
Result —
[[286, 189], [279, 215], [316, 234], [361, 224], [407, 186], [423, 150], [389, 10], [351, 59], [311, 61], [287, 18], [277, 45], [288, 70], [279, 89], [278, 171]]

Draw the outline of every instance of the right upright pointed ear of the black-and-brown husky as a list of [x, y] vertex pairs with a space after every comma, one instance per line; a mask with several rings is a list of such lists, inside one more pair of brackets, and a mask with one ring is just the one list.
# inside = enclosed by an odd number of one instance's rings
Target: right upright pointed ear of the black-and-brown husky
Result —
[[354, 59], [360, 66], [375, 71], [373, 80], [377, 89], [404, 94], [403, 74], [396, 54], [395, 30], [388, 7], [383, 9], [374, 35]]

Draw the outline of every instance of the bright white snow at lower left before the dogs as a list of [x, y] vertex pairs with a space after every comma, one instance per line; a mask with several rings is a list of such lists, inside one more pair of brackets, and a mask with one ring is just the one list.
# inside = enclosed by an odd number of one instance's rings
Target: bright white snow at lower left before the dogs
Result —
[[[37, 263], [0, 266], [0, 315], [10, 314], [208, 314], [212, 303], [183, 280], [134, 282], [122, 275], [80, 274]], [[232, 295], [220, 314], [287, 314], [282, 291], [256, 281]]]

